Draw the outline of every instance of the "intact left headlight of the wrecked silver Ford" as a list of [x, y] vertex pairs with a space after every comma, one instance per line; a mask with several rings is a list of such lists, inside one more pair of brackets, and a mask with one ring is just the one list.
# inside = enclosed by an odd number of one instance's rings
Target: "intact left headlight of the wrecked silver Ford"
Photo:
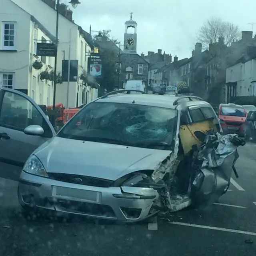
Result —
[[39, 158], [35, 155], [31, 155], [28, 160], [26, 161], [24, 167], [23, 167], [24, 172], [28, 172], [30, 174], [38, 175], [38, 176], [43, 176], [43, 177], [48, 177], [48, 174], [39, 160]]

